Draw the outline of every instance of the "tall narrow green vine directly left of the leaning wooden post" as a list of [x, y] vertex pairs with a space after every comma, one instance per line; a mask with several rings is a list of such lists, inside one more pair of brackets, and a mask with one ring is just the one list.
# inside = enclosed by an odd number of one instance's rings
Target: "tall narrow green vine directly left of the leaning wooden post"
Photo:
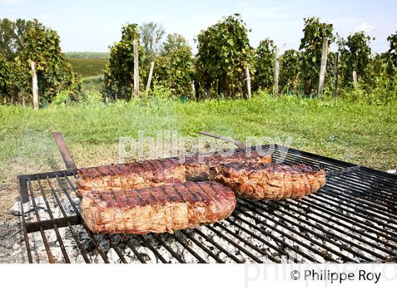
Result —
[[301, 38], [301, 71], [304, 92], [309, 95], [318, 89], [318, 75], [321, 64], [323, 40], [328, 38], [328, 47], [335, 40], [333, 25], [321, 23], [320, 18], [304, 18], [305, 27]]

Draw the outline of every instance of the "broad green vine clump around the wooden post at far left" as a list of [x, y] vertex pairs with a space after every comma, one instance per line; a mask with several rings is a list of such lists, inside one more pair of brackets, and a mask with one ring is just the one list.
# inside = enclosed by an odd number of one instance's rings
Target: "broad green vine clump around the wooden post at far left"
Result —
[[46, 28], [37, 20], [16, 21], [18, 50], [16, 57], [6, 60], [0, 57], [0, 96], [2, 103], [21, 103], [30, 100], [30, 62], [35, 62], [38, 75], [39, 96], [51, 102], [59, 91], [67, 90], [71, 95], [79, 91], [79, 79], [60, 50], [60, 37], [55, 30]]

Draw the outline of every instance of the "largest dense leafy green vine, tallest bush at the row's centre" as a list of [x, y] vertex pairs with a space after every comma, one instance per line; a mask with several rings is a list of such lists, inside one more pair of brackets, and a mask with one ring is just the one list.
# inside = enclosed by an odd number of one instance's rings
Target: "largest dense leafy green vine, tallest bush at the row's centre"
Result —
[[207, 98], [211, 98], [211, 92], [226, 98], [245, 95], [245, 67], [253, 67], [254, 60], [247, 33], [239, 14], [201, 31], [197, 37], [197, 92], [205, 91]]

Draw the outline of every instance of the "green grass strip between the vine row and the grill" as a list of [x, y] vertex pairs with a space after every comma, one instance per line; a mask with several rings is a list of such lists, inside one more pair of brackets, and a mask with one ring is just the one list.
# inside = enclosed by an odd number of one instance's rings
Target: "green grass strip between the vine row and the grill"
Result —
[[179, 103], [164, 100], [76, 105], [35, 112], [0, 106], [0, 215], [16, 196], [16, 175], [65, 168], [52, 139], [60, 130], [77, 166], [118, 162], [118, 138], [176, 129], [245, 137], [293, 138], [291, 147], [381, 170], [397, 167], [397, 106], [341, 100], [255, 97]]

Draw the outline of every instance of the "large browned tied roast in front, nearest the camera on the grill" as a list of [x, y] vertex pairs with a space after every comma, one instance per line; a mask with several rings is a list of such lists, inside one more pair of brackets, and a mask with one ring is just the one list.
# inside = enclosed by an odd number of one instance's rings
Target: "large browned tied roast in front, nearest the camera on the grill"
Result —
[[139, 190], [88, 192], [82, 218], [93, 233], [172, 233], [213, 224], [235, 208], [235, 195], [218, 182], [185, 182]]

